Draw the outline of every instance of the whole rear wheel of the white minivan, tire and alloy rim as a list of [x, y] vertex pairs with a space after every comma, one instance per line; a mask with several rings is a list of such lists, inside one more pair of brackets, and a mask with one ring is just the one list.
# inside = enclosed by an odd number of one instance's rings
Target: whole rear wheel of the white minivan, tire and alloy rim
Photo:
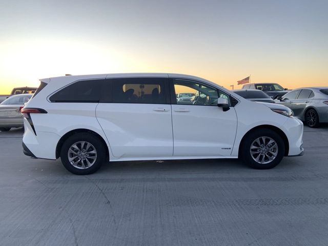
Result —
[[105, 162], [105, 158], [103, 142], [87, 132], [70, 136], [60, 150], [60, 159], [64, 167], [77, 175], [96, 172]]

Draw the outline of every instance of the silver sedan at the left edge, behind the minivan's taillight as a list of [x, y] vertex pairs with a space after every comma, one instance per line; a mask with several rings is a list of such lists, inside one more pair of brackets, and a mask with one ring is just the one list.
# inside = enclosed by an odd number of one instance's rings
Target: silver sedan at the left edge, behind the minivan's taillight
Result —
[[0, 104], [0, 131], [6, 132], [13, 127], [23, 127], [23, 116], [19, 109], [32, 97], [33, 94], [13, 95]]

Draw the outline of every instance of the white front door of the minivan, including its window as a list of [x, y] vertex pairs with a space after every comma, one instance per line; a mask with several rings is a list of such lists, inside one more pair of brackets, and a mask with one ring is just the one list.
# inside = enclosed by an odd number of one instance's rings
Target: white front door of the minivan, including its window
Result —
[[223, 112], [218, 97], [229, 95], [196, 80], [173, 79], [175, 94], [186, 93], [190, 99], [176, 99], [172, 104], [174, 156], [230, 156], [237, 130], [233, 107]]

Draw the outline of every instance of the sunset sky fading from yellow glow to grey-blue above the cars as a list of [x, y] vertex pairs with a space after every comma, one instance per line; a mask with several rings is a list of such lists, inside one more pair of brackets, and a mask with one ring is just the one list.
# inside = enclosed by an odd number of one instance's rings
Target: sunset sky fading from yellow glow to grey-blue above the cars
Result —
[[65, 74], [328, 86], [328, 1], [0, 0], [0, 94]]

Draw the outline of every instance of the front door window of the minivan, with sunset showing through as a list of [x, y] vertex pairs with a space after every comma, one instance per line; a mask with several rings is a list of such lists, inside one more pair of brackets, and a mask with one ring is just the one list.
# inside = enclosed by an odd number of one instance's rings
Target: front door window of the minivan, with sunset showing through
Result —
[[219, 97], [229, 99], [228, 95], [218, 92], [214, 87], [188, 79], [174, 79], [174, 90], [178, 95], [188, 95], [176, 98], [176, 103], [182, 105], [217, 106]]

